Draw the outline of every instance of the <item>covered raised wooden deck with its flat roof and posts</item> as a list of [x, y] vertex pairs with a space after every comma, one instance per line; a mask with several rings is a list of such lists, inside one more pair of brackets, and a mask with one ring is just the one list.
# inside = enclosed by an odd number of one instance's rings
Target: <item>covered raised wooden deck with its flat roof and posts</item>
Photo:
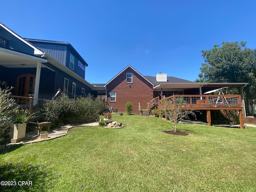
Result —
[[[148, 106], [151, 109], [159, 111], [166, 109], [175, 109], [178, 107], [177, 98], [182, 99], [181, 108], [184, 110], [200, 110], [206, 113], [206, 119], [209, 126], [212, 124], [211, 111], [217, 110], [236, 110], [239, 114], [240, 128], [244, 128], [243, 117], [246, 117], [244, 108], [243, 87], [248, 83], [186, 83], [172, 84], [163, 83], [154, 87], [154, 99]], [[222, 94], [211, 92], [210, 90], [221, 89], [223, 87], [237, 87], [241, 94], [227, 94], [225, 90]], [[168, 95], [168, 96], [166, 96]], [[213, 111], [214, 110], [214, 111]], [[167, 117], [166, 117], [167, 118]]]

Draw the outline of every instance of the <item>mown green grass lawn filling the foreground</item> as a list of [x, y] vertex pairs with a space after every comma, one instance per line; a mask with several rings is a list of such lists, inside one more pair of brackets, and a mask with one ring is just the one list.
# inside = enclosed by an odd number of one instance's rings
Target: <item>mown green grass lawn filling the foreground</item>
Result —
[[[72, 128], [66, 136], [0, 154], [0, 180], [32, 181], [8, 191], [256, 191], [256, 128], [178, 125], [118, 116], [121, 129]], [[19, 183], [20, 184], [20, 183]]]

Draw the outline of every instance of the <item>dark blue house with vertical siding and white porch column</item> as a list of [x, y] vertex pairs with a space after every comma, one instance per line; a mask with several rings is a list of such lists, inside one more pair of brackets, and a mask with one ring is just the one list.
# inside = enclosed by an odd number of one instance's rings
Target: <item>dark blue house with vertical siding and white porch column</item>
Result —
[[14, 87], [13, 95], [48, 99], [60, 89], [96, 96], [87, 66], [70, 43], [22, 38], [0, 22], [0, 86]]

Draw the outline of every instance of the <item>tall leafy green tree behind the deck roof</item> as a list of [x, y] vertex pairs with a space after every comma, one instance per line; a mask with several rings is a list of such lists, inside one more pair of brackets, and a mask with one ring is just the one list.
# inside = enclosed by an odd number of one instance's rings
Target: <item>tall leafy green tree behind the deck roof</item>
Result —
[[[222, 42], [210, 50], [202, 50], [204, 63], [199, 79], [195, 82], [244, 83], [246, 112], [252, 114], [253, 100], [256, 99], [256, 49], [246, 47], [246, 42]], [[240, 90], [232, 90], [240, 93]], [[250, 106], [250, 107], [249, 107]]]

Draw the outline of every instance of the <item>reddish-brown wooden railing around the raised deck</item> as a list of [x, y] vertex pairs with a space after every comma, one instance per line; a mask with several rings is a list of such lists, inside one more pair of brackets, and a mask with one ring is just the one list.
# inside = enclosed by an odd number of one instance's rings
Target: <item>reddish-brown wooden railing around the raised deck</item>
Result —
[[190, 109], [242, 108], [240, 95], [172, 95], [159, 100], [158, 106], [165, 108], [168, 102], [168, 106], [175, 107], [178, 98], [182, 98], [182, 107]]

